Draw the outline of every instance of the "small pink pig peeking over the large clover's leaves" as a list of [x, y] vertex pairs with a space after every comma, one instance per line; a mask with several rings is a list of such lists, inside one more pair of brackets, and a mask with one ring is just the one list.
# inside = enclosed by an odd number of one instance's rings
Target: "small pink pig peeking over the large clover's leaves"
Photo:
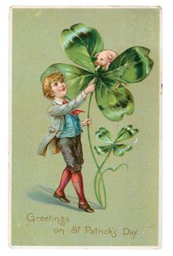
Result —
[[95, 55], [95, 57], [97, 57], [97, 60], [94, 63], [95, 65], [97, 65], [95, 70], [97, 71], [97, 69], [100, 68], [100, 66], [102, 66], [105, 70], [108, 70], [108, 66], [117, 56], [117, 52], [111, 50], [104, 50], [98, 52]]

